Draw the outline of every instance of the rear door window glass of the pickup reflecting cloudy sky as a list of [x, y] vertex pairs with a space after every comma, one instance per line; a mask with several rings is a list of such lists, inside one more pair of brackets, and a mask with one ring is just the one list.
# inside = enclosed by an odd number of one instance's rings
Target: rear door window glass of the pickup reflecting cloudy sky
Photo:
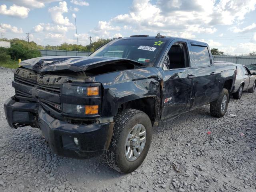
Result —
[[192, 45], [194, 54], [195, 66], [203, 67], [211, 64], [210, 54], [207, 47]]

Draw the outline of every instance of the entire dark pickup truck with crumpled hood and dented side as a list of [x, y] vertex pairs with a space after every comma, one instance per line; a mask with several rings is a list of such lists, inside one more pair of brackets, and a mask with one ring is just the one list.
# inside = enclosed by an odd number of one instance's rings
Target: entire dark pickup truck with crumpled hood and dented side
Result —
[[20, 65], [4, 104], [8, 124], [40, 128], [62, 156], [104, 155], [124, 173], [143, 162], [159, 121], [204, 104], [224, 116], [236, 77], [235, 66], [214, 66], [207, 44], [160, 34], [118, 38], [88, 57]]

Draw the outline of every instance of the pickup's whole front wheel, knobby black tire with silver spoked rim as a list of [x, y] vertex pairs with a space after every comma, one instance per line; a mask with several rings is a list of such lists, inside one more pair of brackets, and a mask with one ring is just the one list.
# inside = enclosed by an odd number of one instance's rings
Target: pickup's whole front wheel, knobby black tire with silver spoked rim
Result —
[[130, 173], [142, 164], [151, 143], [152, 124], [144, 112], [126, 109], [114, 118], [114, 130], [108, 150], [107, 164], [122, 173]]

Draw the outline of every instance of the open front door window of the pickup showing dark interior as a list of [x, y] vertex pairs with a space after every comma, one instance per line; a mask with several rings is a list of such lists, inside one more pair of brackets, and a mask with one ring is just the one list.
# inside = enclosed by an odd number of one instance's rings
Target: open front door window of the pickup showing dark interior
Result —
[[188, 49], [185, 42], [174, 43], [164, 60], [164, 70], [189, 67]]

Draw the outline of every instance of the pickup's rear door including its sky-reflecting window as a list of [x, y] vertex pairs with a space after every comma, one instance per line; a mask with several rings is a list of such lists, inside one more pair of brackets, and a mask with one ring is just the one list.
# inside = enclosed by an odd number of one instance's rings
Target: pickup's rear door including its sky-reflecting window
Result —
[[216, 85], [216, 69], [210, 54], [210, 48], [206, 44], [191, 43], [191, 51], [194, 62], [192, 65], [196, 77], [193, 88], [193, 107], [204, 105], [218, 97]]

